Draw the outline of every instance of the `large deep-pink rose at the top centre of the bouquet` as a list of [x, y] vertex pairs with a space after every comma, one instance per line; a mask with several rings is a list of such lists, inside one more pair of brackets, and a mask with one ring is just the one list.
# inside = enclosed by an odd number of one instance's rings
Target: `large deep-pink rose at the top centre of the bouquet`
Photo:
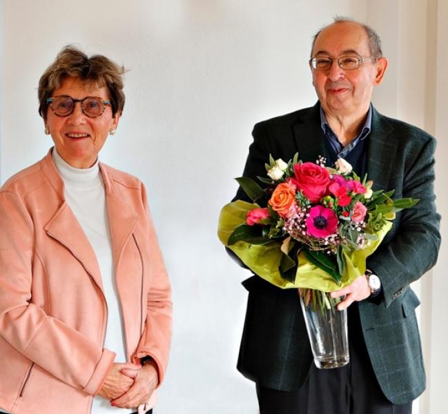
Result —
[[330, 175], [327, 169], [318, 164], [305, 162], [304, 164], [295, 164], [294, 177], [291, 178], [291, 181], [298, 190], [302, 190], [309, 201], [318, 203], [327, 191]]

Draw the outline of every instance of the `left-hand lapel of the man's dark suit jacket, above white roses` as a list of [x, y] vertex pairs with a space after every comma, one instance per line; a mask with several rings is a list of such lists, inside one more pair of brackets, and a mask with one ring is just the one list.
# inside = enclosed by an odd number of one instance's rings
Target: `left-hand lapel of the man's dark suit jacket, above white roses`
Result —
[[315, 162], [319, 155], [325, 155], [324, 132], [320, 126], [320, 103], [306, 112], [300, 112], [293, 125], [295, 146], [299, 159], [304, 162]]

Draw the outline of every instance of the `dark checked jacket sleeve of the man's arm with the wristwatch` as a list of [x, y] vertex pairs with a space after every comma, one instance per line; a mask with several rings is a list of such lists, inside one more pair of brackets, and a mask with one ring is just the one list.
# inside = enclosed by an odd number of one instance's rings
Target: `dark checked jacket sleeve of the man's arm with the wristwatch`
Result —
[[367, 259], [367, 267], [380, 277], [386, 307], [436, 264], [440, 215], [434, 202], [435, 149], [436, 140], [430, 137], [414, 152], [412, 165], [405, 172], [402, 197], [420, 201], [413, 208], [398, 213], [396, 237]]

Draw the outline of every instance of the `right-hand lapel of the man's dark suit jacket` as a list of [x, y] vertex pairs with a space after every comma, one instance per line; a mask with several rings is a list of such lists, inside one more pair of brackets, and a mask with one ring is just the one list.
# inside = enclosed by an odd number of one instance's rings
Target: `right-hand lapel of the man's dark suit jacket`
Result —
[[389, 190], [389, 177], [393, 168], [398, 140], [387, 119], [373, 108], [371, 133], [367, 137], [367, 173], [373, 180], [374, 190]]

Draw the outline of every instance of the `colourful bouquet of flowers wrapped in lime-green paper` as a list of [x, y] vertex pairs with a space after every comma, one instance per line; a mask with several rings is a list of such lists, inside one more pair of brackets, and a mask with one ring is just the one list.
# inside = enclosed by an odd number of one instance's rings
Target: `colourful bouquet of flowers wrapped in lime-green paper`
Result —
[[[373, 191], [344, 159], [288, 162], [270, 156], [268, 177], [237, 178], [252, 203], [222, 208], [218, 237], [246, 266], [280, 288], [301, 288], [306, 302], [364, 274], [366, 259], [392, 227], [395, 213], [416, 199], [392, 199], [393, 190]], [[318, 299], [316, 299], [318, 300]], [[327, 295], [318, 302], [328, 304]]]

